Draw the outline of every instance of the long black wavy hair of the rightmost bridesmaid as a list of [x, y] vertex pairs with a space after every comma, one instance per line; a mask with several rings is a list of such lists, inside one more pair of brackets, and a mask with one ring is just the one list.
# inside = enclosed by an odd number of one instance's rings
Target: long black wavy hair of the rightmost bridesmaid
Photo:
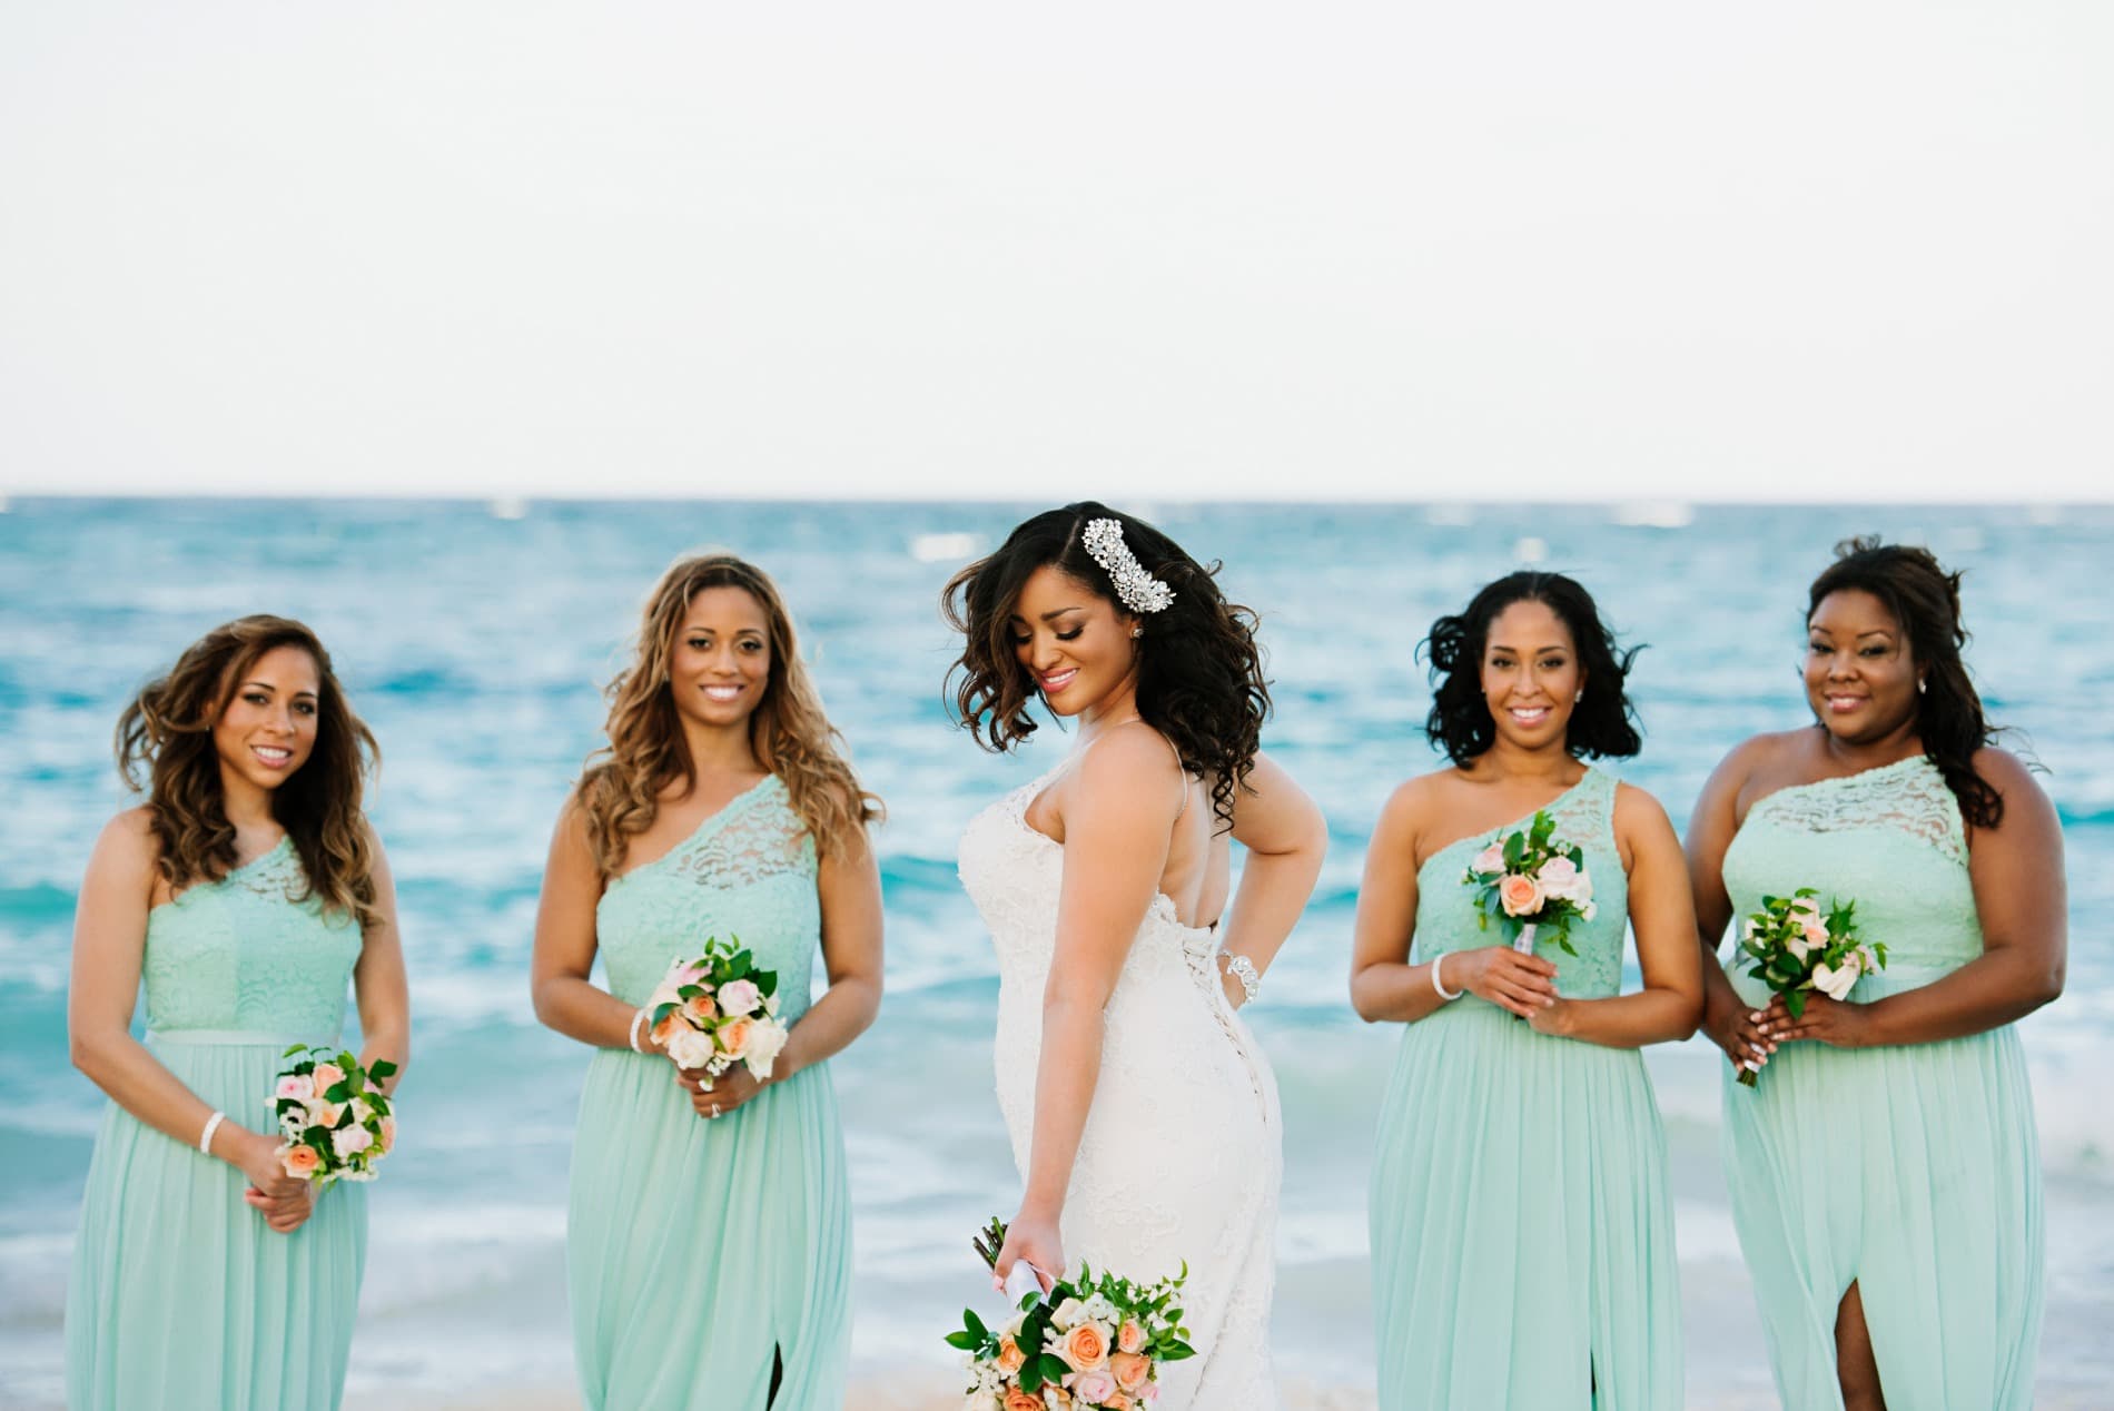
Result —
[[1996, 740], [1998, 732], [1983, 715], [1962, 656], [1968, 630], [1960, 620], [1960, 573], [1947, 573], [1928, 548], [1856, 537], [1837, 544], [1835, 563], [1814, 580], [1805, 620], [1814, 620], [1831, 592], [1846, 590], [1873, 594], [1900, 624], [1911, 660], [1924, 668], [1926, 690], [1915, 696], [1915, 734], [1924, 753], [1960, 800], [1960, 817], [1972, 827], [1996, 827], [2004, 821], [2004, 795], [1974, 772], [1974, 751]]

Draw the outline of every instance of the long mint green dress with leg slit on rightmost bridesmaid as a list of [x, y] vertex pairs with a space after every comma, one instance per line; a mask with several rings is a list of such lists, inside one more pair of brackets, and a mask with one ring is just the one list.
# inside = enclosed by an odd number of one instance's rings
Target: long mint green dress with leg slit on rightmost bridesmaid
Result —
[[[1852, 1003], [1983, 952], [1960, 804], [1928, 757], [1780, 789], [1725, 850], [1733, 922], [1814, 886], [1856, 901], [1888, 965]], [[1769, 992], [1744, 973], [1757, 1009]], [[1786, 1043], [1740, 1087], [1725, 1064], [1725, 1178], [1786, 1407], [1841, 1409], [1835, 1309], [1852, 1282], [1894, 1411], [2034, 1405], [2042, 1225], [2017, 1030], [1875, 1049]]]

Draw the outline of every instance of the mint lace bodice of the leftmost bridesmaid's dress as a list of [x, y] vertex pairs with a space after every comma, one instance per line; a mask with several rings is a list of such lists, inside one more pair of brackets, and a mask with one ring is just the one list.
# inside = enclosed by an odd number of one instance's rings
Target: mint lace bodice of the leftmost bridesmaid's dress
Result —
[[281, 838], [264, 857], [148, 912], [148, 1028], [334, 1041], [359, 924], [315, 897], [296, 901], [307, 888], [300, 853]]

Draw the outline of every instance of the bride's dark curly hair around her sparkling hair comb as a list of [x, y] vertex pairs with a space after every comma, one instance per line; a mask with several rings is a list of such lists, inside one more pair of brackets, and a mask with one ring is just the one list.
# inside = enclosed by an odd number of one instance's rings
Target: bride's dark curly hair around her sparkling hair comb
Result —
[[1131, 616], [1080, 542], [1097, 518], [1116, 520], [1137, 563], [1175, 592], [1169, 607], [1137, 618], [1146, 628], [1137, 639], [1137, 713], [1173, 740], [1182, 768], [1211, 783], [1211, 810], [1230, 827], [1235, 791], [1256, 764], [1271, 713], [1256, 613], [1226, 601], [1213, 582], [1218, 563], [1197, 563], [1142, 518], [1093, 499], [1049, 510], [1006, 535], [996, 554], [947, 580], [941, 611], [962, 633], [962, 656], [947, 671], [953, 717], [989, 751], [1036, 732], [1027, 715], [1034, 679], [1013, 641], [1013, 611], [1036, 569], [1061, 569]]

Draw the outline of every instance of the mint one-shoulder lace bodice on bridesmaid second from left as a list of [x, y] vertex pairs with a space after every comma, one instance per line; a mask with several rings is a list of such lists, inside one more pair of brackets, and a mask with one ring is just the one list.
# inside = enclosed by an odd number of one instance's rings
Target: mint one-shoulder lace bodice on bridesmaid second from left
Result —
[[613, 878], [594, 908], [609, 992], [643, 1005], [676, 956], [712, 937], [778, 971], [778, 1018], [808, 1011], [822, 939], [816, 853], [784, 783], [769, 774], [662, 857]]

